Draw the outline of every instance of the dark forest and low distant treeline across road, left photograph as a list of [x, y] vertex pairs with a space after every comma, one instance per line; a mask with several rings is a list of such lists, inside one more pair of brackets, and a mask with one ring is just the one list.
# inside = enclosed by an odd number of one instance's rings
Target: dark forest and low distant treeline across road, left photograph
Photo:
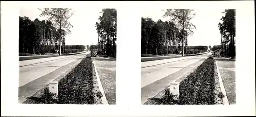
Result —
[[[59, 29], [51, 21], [38, 18], [30, 20], [28, 17], [19, 17], [19, 53], [45, 54], [55, 53], [58, 50]], [[62, 45], [65, 45], [66, 33], [61, 30]], [[84, 45], [62, 46], [63, 53], [84, 51]]]

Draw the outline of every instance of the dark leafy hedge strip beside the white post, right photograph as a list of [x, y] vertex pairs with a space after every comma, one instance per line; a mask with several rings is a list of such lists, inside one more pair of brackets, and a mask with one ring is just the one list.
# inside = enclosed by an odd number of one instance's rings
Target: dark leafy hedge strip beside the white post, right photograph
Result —
[[173, 100], [175, 95], [164, 90], [160, 104], [170, 105], [213, 105], [222, 104], [223, 94], [220, 91], [215, 60], [206, 59], [194, 72], [180, 82], [178, 100]]

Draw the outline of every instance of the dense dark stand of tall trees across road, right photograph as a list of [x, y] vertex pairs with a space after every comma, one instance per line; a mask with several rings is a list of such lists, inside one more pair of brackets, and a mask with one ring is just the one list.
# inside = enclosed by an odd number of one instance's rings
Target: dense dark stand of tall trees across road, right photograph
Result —
[[[184, 43], [187, 46], [188, 33], [184, 30]], [[181, 50], [182, 33], [172, 21], [141, 18], [141, 54], [176, 54]], [[187, 50], [186, 50], [187, 52]]]

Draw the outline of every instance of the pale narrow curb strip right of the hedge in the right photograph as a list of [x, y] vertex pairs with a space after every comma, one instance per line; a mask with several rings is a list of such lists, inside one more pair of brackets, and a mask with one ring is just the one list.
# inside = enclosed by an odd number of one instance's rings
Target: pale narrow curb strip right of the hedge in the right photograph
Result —
[[214, 63], [215, 63], [216, 68], [217, 68], [217, 73], [218, 73], [218, 78], [219, 78], [219, 82], [220, 82], [221, 92], [224, 95], [224, 97], [222, 98], [223, 104], [224, 105], [229, 105], [229, 102], [228, 102], [228, 99], [227, 99], [227, 94], [226, 94], [225, 87], [224, 87], [223, 82], [222, 82], [222, 78], [221, 78], [221, 74], [220, 74], [220, 71], [219, 71], [218, 64], [217, 64], [216, 61]]

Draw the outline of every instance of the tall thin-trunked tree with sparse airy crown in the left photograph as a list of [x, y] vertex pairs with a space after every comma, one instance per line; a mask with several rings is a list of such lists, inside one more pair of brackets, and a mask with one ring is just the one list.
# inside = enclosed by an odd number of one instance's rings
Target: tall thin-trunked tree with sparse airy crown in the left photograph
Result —
[[42, 12], [40, 16], [47, 16], [56, 29], [59, 29], [59, 55], [61, 55], [61, 29], [66, 33], [71, 33], [70, 28], [73, 25], [70, 24], [68, 19], [73, 15], [71, 9], [68, 8], [44, 8], [40, 9]]

